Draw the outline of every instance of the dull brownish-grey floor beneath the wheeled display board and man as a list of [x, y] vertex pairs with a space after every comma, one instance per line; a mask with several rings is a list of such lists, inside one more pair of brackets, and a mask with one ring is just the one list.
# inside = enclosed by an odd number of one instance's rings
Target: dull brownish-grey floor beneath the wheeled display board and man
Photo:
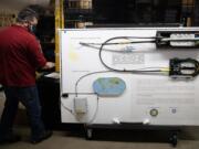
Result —
[[[4, 96], [0, 93], [0, 115]], [[20, 142], [0, 145], [0, 149], [172, 149], [168, 142], [160, 138], [161, 134], [150, 134], [129, 130], [96, 130], [94, 140], [85, 140], [81, 130], [54, 131], [53, 136], [38, 145], [29, 142], [30, 129], [27, 125], [15, 126], [22, 136]], [[165, 136], [163, 137], [165, 139]], [[159, 140], [159, 141], [158, 141]], [[167, 139], [166, 139], [167, 140]], [[177, 149], [197, 149], [199, 147], [199, 127], [186, 128], [180, 132]]]

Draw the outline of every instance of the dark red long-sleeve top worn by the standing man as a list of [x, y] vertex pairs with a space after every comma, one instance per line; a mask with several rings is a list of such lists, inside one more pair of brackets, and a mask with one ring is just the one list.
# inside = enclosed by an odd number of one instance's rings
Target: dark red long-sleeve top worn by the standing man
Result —
[[0, 84], [35, 85], [35, 70], [45, 63], [40, 43], [27, 28], [12, 25], [0, 30]]

